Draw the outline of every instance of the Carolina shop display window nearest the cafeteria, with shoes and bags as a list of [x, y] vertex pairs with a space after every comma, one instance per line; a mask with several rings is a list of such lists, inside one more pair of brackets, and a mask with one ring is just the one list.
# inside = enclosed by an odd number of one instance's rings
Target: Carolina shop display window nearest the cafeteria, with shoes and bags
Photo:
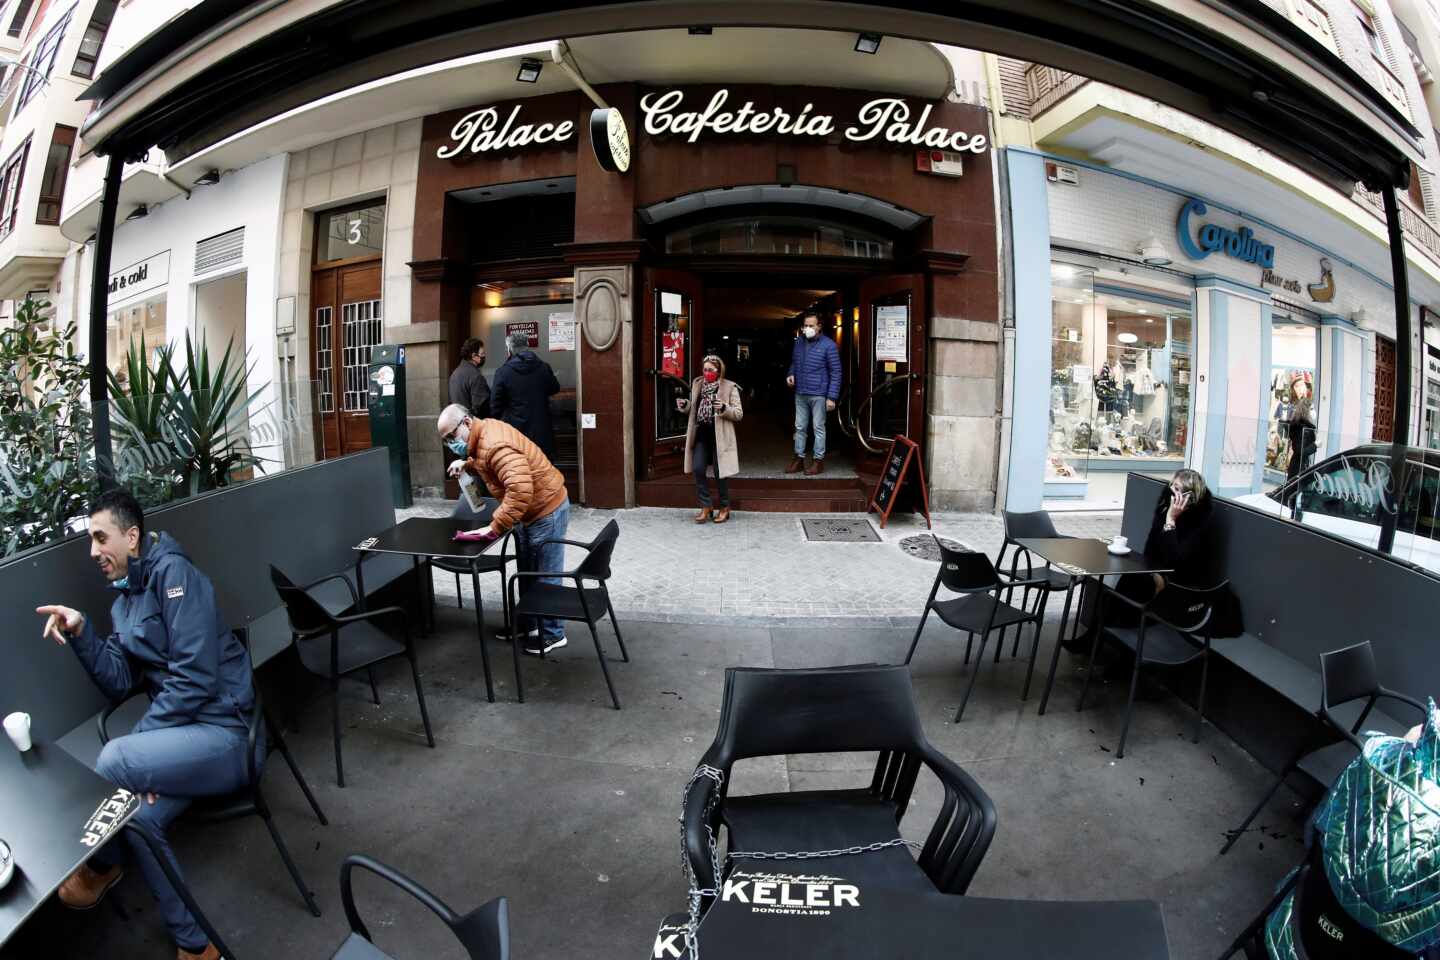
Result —
[[1156, 475], [1184, 465], [1192, 318], [1171, 292], [1117, 286], [1087, 268], [1051, 268], [1050, 442], [1045, 481]]

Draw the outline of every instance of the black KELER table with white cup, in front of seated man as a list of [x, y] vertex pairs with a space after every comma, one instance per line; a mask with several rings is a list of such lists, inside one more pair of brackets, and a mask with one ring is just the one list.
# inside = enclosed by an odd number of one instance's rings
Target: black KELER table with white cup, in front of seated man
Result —
[[0, 888], [0, 944], [138, 809], [138, 794], [59, 744], [36, 741], [20, 753], [0, 743], [0, 839], [14, 853], [14, 875]]

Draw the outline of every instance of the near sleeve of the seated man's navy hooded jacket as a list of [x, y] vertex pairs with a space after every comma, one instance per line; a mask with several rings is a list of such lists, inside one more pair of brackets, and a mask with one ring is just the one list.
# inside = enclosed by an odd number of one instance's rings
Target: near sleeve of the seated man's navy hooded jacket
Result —
[[186, 561], [166, 563], [154, 579], [170, 643], [168, 675], [135, 733], [193, 721], [219, 687], [220, 626], [210, 583]]

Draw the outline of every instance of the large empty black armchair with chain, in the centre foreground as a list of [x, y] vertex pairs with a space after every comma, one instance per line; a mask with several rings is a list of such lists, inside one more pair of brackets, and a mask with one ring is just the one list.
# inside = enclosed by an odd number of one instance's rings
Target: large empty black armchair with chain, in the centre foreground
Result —
[[[729, 796], [737, 760], [809, 753], [877, 751], [868, 787]], [[900, 845], [920, 767], [945, 789], [919, 858]], [[732, 852], [816, 852], [884, 843], [828, 856], [837, 871], [917, 892], [963, 894], [995, 835], [995, 805], [920, 727], [910, 671], [865, 664], [821, 669], [730, 668], [714, 743], [685, 787], [685, 864], [698, 891], [714, 891], [724, 865], [714, 849], [721, 825]], [[743, 858], [740, 858], [743, 859]], [[713, 900], [701, 894], [703, 907]]]

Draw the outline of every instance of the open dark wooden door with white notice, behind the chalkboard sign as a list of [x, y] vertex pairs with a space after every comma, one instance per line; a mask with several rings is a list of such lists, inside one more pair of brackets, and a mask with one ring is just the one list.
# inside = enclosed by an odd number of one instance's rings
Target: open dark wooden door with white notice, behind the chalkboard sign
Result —
[[924, 278], [919, 273], [871, 276], [860, 285], [860, 335], [855, 351], [860, 399], [855, 429], [871, 448], [861, 448], [860, 466], [878, 472], [896, 435], [924, 446], [926, 377]]

